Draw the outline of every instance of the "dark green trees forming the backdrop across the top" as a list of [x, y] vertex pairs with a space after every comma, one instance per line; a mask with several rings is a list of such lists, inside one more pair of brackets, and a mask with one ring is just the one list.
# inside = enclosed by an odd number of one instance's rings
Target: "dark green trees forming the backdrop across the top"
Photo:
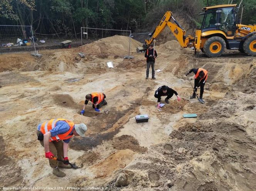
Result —
[[[148, 32], [170, 10], [199, 28], [202, 7], [231, 1], [241, 0], [0, 0], [0, 24], [31, 24], [43, 34], [74, 34], [86, 26]], [[256, 23], [256, 0], [243, 0], [242, 5], [242, 23]]]

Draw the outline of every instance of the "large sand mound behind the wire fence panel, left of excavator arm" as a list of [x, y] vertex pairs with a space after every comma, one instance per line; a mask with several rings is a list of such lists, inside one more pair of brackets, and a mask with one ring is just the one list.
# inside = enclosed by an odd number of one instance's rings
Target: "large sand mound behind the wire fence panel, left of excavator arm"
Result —
[[[114, 35], [84, 45], [83, 51], [86, 54], [125, 55], [128, 54], [129, 43], [129, 37]], [[141, 46], [141, 43], [131, 38], [130, 51], [135, 52], [136, 47], [139, 46]]]

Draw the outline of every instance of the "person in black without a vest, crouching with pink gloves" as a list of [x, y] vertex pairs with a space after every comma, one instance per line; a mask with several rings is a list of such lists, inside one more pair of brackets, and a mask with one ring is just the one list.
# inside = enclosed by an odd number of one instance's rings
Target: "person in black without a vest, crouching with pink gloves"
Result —
[[170, 103], [169, 99], [173, 96], [173, 94], [175, 94], [177, 96], [178, 101], [181, 100], [178, 93], [175, 90], [173, 90], [172, 88], [170, 88], [166, 85], [158, 87], [158, 89], [155, 91], [155, 98], [157, 98], [157, 108], [158, 109], [160, 108], [160, 101], [161, 101], [162, 96], [167, 96], [165, 98], [165, 102], [168, 104], [168, 103]]

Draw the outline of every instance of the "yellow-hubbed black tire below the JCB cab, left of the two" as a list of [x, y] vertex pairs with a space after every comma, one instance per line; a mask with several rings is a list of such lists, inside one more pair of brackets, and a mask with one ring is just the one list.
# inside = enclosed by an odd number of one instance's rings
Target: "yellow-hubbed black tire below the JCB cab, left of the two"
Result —
[[226, 42], [221, 37], [211, 37], [204, 43], [204, 54], [207, 57], [219, 57], [226, 49]]

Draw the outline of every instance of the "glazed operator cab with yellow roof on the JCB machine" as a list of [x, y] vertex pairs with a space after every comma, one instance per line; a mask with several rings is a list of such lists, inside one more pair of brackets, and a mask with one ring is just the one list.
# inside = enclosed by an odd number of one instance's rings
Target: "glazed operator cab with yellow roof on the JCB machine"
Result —
[[202, 23], [202, 32], [210, 30], [221, 30], [226, 36], [232, 37], [236, 32], [236, 17], [234, 5], [217, 5], [204, 7], [204, 20]]

